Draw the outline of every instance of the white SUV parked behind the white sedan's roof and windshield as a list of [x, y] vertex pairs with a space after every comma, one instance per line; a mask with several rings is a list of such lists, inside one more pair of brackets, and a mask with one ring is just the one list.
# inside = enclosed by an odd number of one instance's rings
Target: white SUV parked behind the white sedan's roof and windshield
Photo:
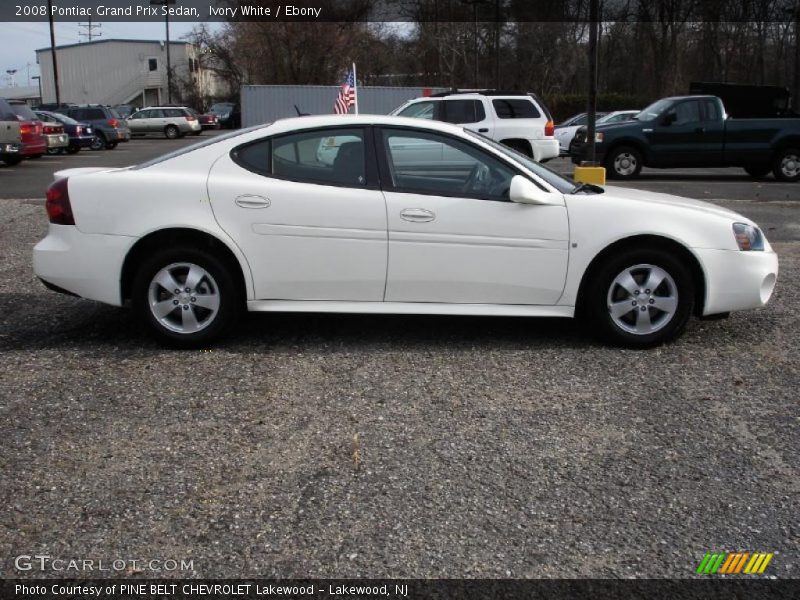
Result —
[[538, 162], [558, 156], [553, 119], [535, 94], [446, 92], [409, 100], [391, 114], [463, 125]]

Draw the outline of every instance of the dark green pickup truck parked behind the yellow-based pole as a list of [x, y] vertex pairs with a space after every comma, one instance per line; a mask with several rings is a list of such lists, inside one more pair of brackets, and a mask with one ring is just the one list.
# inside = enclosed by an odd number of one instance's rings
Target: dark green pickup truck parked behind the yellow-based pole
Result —
[[[663, 98], [632, 121], [597, 128], [596, 160], [609, 177], [630, 179], [642, 167], [743, 167], [800, 179], [800, 118], [734, 119], [716, 96]], [[572, 162], [587, 160], [586, 129], [570, 144]]]

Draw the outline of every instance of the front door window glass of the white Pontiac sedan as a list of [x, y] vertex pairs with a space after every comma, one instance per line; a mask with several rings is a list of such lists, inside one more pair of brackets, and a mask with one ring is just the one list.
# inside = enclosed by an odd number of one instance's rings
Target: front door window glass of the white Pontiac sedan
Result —
[[508, 200], [514, 171], [479, 148], [420, 131], [384, 129], [382, 135], [398, 191]]

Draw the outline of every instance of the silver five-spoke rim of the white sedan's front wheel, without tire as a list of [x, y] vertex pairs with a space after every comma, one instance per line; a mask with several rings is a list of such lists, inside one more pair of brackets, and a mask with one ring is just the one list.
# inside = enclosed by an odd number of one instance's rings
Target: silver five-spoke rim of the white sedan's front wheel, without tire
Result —
[[628, 267], [608, 288], [608, 313], [614, 324], [634, 335], [655, 333], [675, 316], [678, 288], [661, 267]]

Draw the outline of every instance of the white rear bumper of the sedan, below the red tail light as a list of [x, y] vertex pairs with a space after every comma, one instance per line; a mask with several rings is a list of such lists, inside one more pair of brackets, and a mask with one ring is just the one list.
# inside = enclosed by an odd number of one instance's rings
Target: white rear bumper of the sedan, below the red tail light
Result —
[[51, 286], [67, 292], [122, 305], [120, 275], [136, 238], [82, 233], [74, 225], [53, 225], [33, 249], [33, 271]]

